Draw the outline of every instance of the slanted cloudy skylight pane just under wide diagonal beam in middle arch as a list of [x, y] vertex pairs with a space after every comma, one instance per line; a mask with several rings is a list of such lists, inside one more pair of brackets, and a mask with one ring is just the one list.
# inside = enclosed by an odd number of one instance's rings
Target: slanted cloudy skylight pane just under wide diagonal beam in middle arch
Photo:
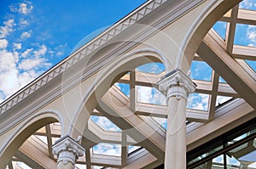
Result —
[[113, 124], [112, 121], [109, 121], [108, 118], [105, 116], [90, 115], [90, 119], [105, 131], [121, 132], [121, 129]]

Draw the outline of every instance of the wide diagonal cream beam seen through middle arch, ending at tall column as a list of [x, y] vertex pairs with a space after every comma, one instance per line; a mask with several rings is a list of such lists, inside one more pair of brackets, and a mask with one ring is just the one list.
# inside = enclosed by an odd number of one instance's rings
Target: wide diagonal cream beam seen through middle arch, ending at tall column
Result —
[[[112, 89], [110, 88], [110, 90]], [[131, 138], [140, 142], [145, 149], [148, 149], [160, 161], [164, 160], [165, 136], [160, 135], [154, 127], [135, 115], [125, 104], [119, 101], [118, 97], [115, 97], [112, 93], [105, 94], [102, 97], [102, 102], [97, 105], [97, 110], [119, 128], [126, 130]]]

